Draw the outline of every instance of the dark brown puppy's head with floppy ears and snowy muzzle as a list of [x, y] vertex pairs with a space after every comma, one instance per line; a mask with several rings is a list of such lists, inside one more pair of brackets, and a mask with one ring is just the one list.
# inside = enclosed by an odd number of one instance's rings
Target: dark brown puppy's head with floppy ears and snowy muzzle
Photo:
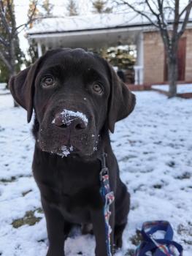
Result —
[[102, 129], [134, 109], [135, 97], [110, 64], [82, 49], [50, 50], [9, 81], [15, 101], [34, 112], [42, 151], [91, 156]]

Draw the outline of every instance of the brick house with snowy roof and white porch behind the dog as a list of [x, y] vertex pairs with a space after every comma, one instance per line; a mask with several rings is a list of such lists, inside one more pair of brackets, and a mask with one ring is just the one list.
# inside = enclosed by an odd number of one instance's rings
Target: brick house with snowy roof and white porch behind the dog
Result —
[[[166, 83], [167, 67], [160, 33], [146, 18], [135, 12], [44, 18], [27, 31], [29, 42], [52, 48], [101, 48], [136, 45], [135, 84]], [[178, 80], [192, 81], [192, 19], [180, 40]]]

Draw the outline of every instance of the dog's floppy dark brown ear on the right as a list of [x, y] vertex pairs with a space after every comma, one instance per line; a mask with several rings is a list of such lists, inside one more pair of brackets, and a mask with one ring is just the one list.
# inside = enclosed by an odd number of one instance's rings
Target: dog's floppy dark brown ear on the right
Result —
[[115, 122], [126, 118], [133, 110], [136, 103], [136, 97], [128, 87], [123, 83], [115, 70], [110, 67], [110, 102], [108, 112], [108, 127], [113, 133]]

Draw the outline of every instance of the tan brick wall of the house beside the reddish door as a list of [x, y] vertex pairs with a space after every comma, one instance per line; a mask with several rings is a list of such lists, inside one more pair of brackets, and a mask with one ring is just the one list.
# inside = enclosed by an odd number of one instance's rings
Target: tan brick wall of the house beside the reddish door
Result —
[[[192, 81], [192, 29], [186, 37], [185, 81]], [[144, 33], [144, 83], [164, 83], [164, 44], [157, 31]]]

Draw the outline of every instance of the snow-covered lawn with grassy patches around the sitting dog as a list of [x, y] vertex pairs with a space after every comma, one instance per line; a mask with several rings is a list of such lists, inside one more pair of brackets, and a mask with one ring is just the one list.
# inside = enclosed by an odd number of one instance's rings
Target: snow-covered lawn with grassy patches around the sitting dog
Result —
[[[131, 193], [124, 246], [116, 255], [132, 255], [136, 229], [142, 222], [165, 219], [174, 228], [174, 241], [183, 245], [184, 256], [191, 256], [192, 99], [167, 99], [153, 91], [136, 94], [134, 113], [118, 122], [111, 136], [120, 176]], [[31, 176], [34, 141], [30, 129], [26, 111], [12, 108], [10, 95], [0, 95], [2, 256], [45, 256], [47, 251], [45, 217]], [[93, 256], [94, 239], [76, 231], [66, 241], [66, 256], [80, 252]]]

